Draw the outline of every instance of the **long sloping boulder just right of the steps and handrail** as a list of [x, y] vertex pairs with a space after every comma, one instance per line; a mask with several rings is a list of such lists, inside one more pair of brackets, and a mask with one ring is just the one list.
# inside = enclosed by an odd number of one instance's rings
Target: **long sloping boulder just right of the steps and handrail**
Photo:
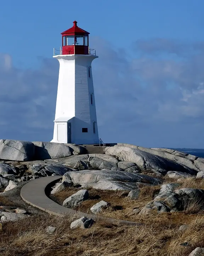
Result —
[[[157, 151], [157, 150], [155, 150]], [[107, 147], [105, 154], [116, 155], [118, 158], [124, 161], [134, 162], [141, 170], [151, 169], [161, 174], [166, 174], [167, 171], [181, 171], [189, 174], [197, 174], [197, 171], [190, 169], [189, 167], [179, 164], [175, 161], [165, 159], [158, 155], [132, 148], [128, 146], [115, 145]]]

